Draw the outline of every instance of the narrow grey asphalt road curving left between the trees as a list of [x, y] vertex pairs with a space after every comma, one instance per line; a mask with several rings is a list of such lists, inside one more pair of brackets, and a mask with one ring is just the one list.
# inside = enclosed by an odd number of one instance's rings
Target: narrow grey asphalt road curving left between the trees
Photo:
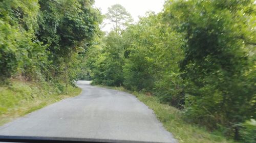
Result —
[[[0, 127], [0, 135], [177, 142], [133, 95], [78, 81], [82, 93]], [[128, 141], [129, 142], [129, 141]]]

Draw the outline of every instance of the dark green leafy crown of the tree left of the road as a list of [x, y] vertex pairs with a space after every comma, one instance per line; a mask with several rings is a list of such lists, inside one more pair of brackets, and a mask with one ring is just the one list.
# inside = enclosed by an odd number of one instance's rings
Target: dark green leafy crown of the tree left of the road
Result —
[[99, 21], [90, 1], [40, 0], [39, 4], [38, 37], [53, 54], [67, 56], [90, 44]]

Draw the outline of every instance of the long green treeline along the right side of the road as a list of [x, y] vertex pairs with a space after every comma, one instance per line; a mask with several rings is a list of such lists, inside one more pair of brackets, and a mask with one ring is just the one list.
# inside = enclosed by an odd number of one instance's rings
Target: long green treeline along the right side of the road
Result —
[[254, 1], [167, 1], [89, 49], [93, 82], [157, 96], [187, 122], [255, 142], [255, 14]]

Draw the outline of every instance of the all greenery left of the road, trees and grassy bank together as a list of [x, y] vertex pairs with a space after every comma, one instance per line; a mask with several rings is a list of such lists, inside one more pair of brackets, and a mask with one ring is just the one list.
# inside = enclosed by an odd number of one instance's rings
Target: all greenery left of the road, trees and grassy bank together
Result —
[[0, 1], [0, 125], [80, 93], [79, 63], [100, 34], [93, 3]]

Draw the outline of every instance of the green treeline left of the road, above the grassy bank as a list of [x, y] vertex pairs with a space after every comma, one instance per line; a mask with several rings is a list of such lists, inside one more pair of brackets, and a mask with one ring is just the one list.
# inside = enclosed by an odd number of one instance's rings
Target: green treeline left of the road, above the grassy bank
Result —
[[[0, 1], [0, 79], [72, 84], [99, 32], [90, 0]], [[5, 82], [4, 82], [5, 81]]]

